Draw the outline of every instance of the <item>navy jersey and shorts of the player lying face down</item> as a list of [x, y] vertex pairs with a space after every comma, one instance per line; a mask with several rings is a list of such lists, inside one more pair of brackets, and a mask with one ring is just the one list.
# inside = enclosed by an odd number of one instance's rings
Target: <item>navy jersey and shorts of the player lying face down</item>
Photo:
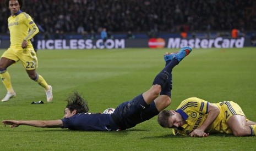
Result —
[[159, 114], [155, 102], [146, 104], [142, 94], [123, 102], [113, 114], [82, 113], [62, 119], [63, 128], [80, 131], [126, 130]]

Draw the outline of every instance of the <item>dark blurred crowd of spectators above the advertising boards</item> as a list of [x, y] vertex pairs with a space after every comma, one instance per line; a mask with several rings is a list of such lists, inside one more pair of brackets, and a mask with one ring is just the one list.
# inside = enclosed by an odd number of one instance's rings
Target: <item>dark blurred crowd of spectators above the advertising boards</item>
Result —
[[[0, 0], [0, 33], [9, 9]], [[49, 33], [256, 30], [255, 0], [26, 0], [21, 10]]]

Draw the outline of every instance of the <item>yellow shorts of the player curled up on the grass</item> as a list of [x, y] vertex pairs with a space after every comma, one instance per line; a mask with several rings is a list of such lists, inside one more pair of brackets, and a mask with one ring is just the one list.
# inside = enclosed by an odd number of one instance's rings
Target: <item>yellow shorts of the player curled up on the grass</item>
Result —
[[220, 132], [232, 133], [230, 127], [227, 124], [228, 119], [230, 119], [230, 117], [233, 115], [243, 115], [244, 117], [246, 117], [246, 115], [244, 115], [242, 108], [237, 103], [232, 101], [220, 102], [220, 107], [220, 114], [222, 114]]

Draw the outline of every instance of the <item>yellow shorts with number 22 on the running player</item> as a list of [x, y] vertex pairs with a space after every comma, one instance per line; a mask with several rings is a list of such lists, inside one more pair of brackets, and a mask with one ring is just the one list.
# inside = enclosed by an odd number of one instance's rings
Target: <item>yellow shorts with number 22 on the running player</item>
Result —
[[2, 57], [14, 60], [15, 62], [20, 60], [26, 70], [37, 68], [37, 57], [33, 48], [8, 48], [4, 51]]

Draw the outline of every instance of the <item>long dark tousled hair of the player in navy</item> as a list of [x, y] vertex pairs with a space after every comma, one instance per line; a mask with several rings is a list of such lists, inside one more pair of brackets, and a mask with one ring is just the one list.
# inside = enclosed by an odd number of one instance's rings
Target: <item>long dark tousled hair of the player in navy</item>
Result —
[[66, 101], [68, 101], [67, 108], [70, 112], [77, 110], [77, 113], [87, 113], [89, 111], [88, 103], [78, 92], [69, 94]]

